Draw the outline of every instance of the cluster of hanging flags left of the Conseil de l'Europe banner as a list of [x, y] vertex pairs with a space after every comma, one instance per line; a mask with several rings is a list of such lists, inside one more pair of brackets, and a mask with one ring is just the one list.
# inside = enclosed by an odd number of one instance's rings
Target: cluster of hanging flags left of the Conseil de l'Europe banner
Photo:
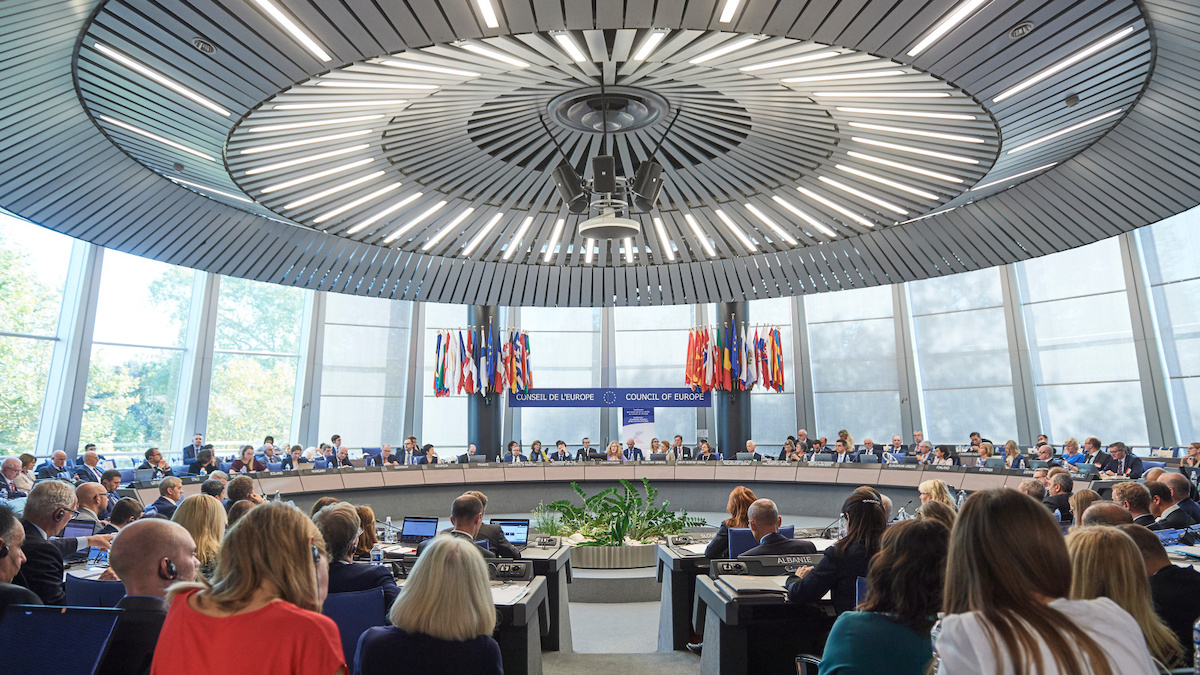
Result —
[[433, 394], [526, 394], [533, 388], [529, 334], [514, 329], [439, 330]]

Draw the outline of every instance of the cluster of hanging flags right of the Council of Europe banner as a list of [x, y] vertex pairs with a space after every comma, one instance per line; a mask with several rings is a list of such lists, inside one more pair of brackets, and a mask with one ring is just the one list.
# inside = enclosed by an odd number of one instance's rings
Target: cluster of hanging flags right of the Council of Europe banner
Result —
[[[763, 330], [760, 331], [760, 328]], [[784, 347], [779, 327], [697, 327], [688, 334], [684, 384], [692, 392], [784, 390]]]

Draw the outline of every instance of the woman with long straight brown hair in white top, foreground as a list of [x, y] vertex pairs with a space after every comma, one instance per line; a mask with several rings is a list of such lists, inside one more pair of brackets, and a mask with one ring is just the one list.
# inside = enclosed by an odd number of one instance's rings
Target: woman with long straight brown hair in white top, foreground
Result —
[[937, 673], [1157, 673], [1127, 611], [1069, 592], [1067, 544], [1044, 506], [1003, 488], [971, 495], [950, 533]]

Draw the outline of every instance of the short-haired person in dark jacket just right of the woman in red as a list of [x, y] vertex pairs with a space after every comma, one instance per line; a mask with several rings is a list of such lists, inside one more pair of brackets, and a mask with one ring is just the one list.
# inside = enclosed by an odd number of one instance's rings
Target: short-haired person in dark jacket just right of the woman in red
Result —
[[[312, 518], [329, 548], [329, 592], [349, 593], [383, 589], [384, 607], [391, 607], [400, 595], [391, 571], [382, 565], [354, 565], [362, 521], [349, 502], [330, 504]], [[374, 525], [372, 524], [372, 530]]]

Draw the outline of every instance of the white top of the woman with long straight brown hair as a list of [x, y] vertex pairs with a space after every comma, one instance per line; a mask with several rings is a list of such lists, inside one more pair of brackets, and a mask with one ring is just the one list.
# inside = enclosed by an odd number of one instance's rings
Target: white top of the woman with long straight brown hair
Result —
[[[1049, 607], [1061, 611], [1100, 645], [1108, 656], [1112, 673], [1121, 675], [1156, 675], [1158, 673], [1150, 656], [1150, 650], [1146, 649], [1146, 641], [1129, 639], [1141, 635], [1138, 622], [1111, 599], [1068, 601], [1058, 598], [1052, 601]], [[1118, 638], [1114, 638], [1115, 635]], [[1054, 665], [1050, 649], [1040, 639], [1038, 641], [1042, 645], [1042, 663], [1045, 668], [1042, 671], [1043, 675], [1057, 674], [1058, 670]], [[976, 613], [952, 614], [943, 619], [942, 631], [934, 649], [941, 658], [937, 675], [958, 675], [960, 673], [1016, 675], [1021, 673], [1014, 668], [1008, 658], [1008, 650], [1002, 645], [997, 646], [997, 651], [992, 651], [988, 643], [988, 634]], [[1072, 658], [1079, 658], [1078, 652]]]

